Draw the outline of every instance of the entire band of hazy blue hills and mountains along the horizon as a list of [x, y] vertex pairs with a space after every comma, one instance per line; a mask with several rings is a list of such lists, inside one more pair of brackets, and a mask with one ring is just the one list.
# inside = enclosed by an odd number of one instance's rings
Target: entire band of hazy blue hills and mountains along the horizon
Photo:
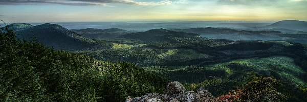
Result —
[[[137, 39], [145, 42], [173, 41], [174, 38], [206, 37], [211, 39], [228, 40], [284, 40], [291, 42], [307, 43], [307, 34], [302, 32], [307, 28], [305, 21], [283, 20], [268, 25], [262, 30], [247, 31], [228, 28], [191, 28], [191, 29], [153, 29], [146, 32], [126, 31], [117, 28], [111, 29], [80, 29], [68, 30], [58, 24], [45, 23], [31, 25], [28, 23], [12, 23], [10, 29], [17, 33], [17, 38], [30, 40], [36, 37], [38, 41], [55, 49], [83, 50], [106, 47], [98, 39]], [[295, 30], [293, 30], [295, 29]], [[273, 31], [274, 30], [274, 31]], [[298, 31], [301, 30], [301, 31]], [[76, 32], [76, 33], [75, 33]], [[296, 32], [284, 34], [284, 32]]]

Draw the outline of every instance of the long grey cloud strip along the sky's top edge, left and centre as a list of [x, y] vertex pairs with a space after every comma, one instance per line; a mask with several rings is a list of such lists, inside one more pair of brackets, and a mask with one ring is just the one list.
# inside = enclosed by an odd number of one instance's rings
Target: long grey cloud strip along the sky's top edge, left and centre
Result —
[[160, 2], [135, 2], [133, 0], [0, 0], [0, 5], [33, 5], [33, 4], [60, 4], [72, 6], [107, 6], [107, 4], [130, 4], [130, 5], [169, 5], [185, 3], [184, 0], [177, 2], [163, 0]]

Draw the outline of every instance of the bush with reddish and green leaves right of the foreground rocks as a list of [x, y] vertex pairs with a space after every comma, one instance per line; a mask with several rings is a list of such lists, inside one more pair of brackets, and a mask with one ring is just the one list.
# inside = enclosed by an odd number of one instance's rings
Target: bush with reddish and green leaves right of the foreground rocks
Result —
[[246, 81], [242, 89], [218, 96], [215, 101], [286, 101], [288, 98], [277, 91], [282, 84], [273, 77], [250, 75]]

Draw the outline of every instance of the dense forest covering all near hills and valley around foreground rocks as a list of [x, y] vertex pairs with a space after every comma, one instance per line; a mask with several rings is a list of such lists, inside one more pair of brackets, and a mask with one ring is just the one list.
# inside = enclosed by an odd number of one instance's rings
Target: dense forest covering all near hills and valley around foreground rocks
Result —
[[[307, 100], [306, 44], [208, 39], [165, 29], [90, 39], [56, 24], [10, 26], [1, 28], [1, 101], [124, 101], [163, 93], [171, 81], [189, 91], [203, 87], [216, 101]], [[43, 34], [77, 45], [49, 36], [62, 45], [54, 49]]]

